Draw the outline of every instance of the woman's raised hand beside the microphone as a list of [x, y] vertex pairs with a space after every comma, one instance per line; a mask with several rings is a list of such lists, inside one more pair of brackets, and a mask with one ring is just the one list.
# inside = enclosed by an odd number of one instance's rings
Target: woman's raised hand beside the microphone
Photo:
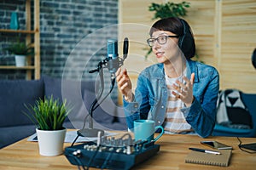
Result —
[[121, 68], [119, 68], [115, 75], [119, 91], [125, 96], [126, 101], [131, 102], [133, 94], [131, 91], [131, 79], [127, 74], [127, 70], [124, 69], [122, 71]]

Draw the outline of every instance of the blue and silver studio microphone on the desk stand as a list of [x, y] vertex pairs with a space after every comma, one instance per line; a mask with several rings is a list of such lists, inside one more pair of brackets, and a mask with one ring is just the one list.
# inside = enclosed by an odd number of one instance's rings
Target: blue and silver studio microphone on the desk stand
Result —
[[108, 39], [108, 70], [111, 79], [115, 77], [115, 72], [119, 69], [118, 42], [115, 39]]

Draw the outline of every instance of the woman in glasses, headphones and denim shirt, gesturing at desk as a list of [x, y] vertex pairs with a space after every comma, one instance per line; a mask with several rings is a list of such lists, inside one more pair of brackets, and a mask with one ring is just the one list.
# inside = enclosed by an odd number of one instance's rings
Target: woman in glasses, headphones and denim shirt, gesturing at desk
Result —
[[135, 94], [127, 71], [119, 68], [116, 72], [129, 129], [134, 120], [151, 119], [162, 125], [165, 133], [209, 136], [215, 124], [218, 71], [191, 60], [195, 40], [185, 20], [158, 20], [149, 35], [148, 45], [158, 64], [140, 73]]

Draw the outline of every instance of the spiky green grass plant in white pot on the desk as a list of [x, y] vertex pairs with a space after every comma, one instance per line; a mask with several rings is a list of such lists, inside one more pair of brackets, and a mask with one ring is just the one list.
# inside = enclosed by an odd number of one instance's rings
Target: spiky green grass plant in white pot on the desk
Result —
[[61, 103], [53, 96], [44, 97], [36, 100], [35, 105], [29, 105], [26, 108], [28, 109], [26, 115], [38, 125], [36, 131], [40, 155], [61, 155], [67, 132], [63, 122], [71, 111], [67, 109], [67, 101]]

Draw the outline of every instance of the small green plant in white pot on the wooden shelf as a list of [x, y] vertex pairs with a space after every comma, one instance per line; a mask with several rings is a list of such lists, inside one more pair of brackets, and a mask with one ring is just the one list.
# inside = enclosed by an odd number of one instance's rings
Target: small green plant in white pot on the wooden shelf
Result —
[[26, 45], [25, 42], [14, 42], [9, 48], [6, 48], [9, 53], [15, 54], [15, 64], [16, 66], [25, 66], [26, 65], [26, 56], [33, 54], [32, 47]]

